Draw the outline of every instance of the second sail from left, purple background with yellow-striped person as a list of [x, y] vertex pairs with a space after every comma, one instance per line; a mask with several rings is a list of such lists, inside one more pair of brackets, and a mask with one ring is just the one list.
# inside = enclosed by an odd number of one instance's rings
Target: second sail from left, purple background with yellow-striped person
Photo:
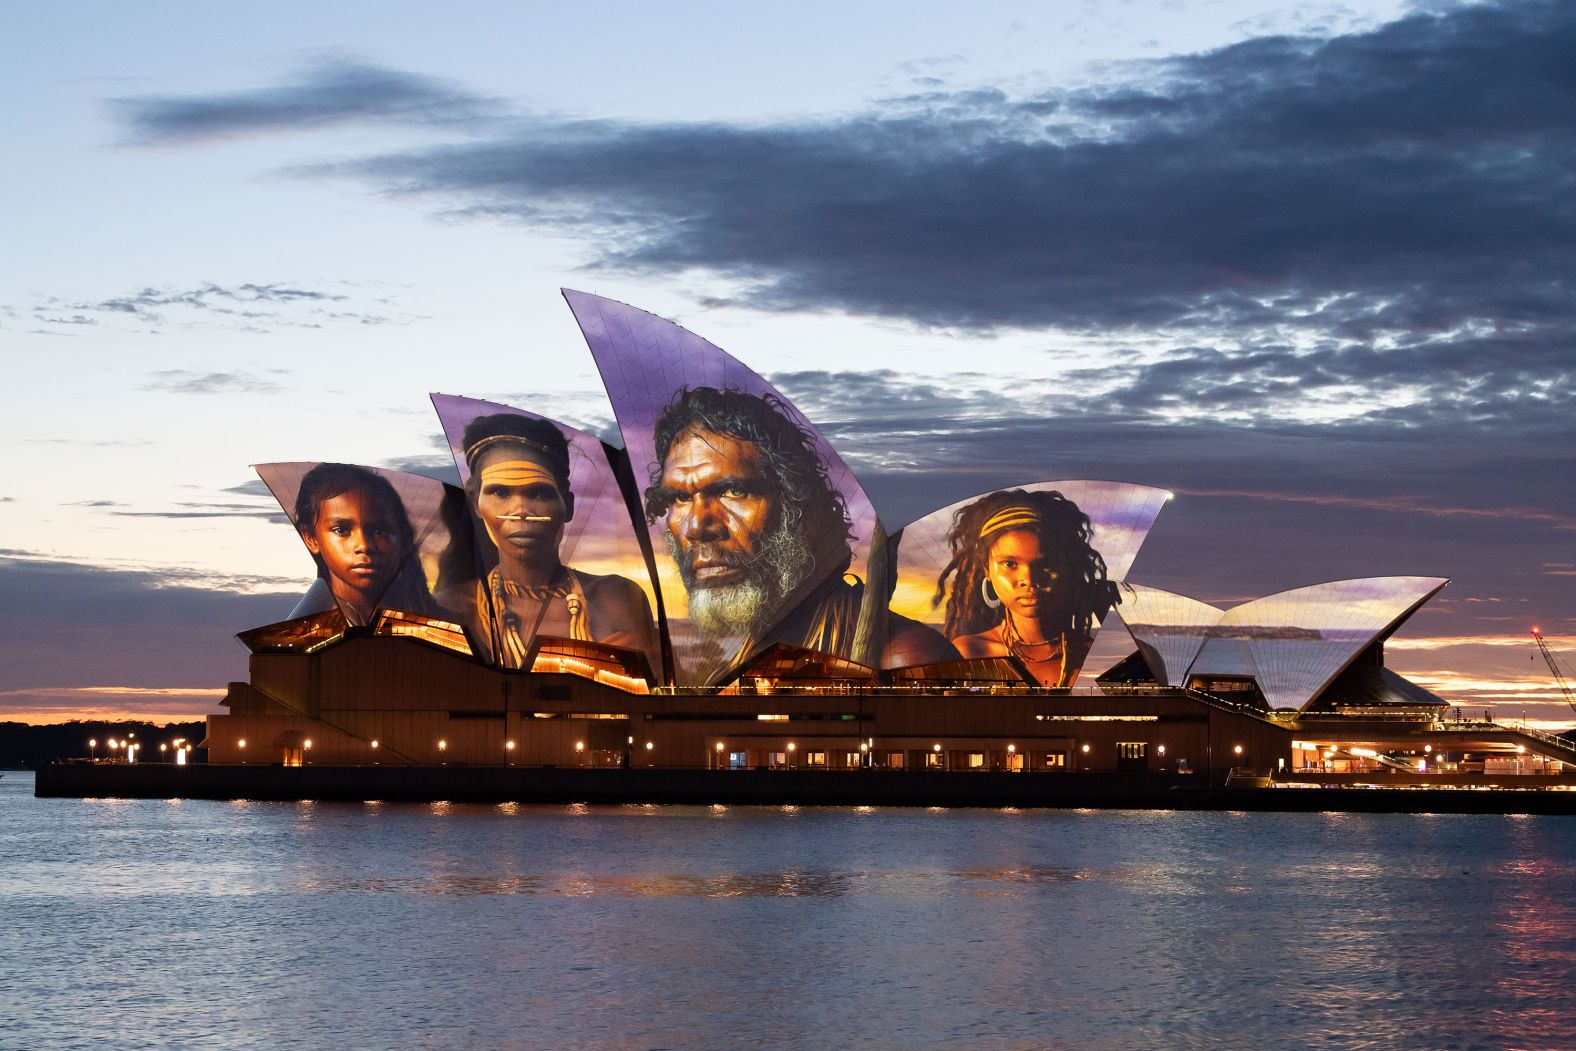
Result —
[[[553, 637], [640, 651], [660, 670], [660, 646], [651, 602], [641, 586], [618, 572], [591, 572], [569, 564], [578, 548], [600, 561], [623, 561], [643, 574], [623, 493], [600, 443], [575, 451], [552, 421], [520, 411], [474, 414], [489, 407], [465, 399], [435, 399], [444, 427], [457, 427], [465, 495], [479, 526], [478, 542], [487, 572], [470, 588], [449, 589], [440, 600], [474, 626], [495, 663], [523, 668], [531, 641]], [[575, 455], [578, 452], [578, 455]], [[572, 463], [591, 490], [577, 495]], [[600, 463], [597, 463], [600, 460]], [[600, 503], [602, 528], [586, 529]], [[577, 528], [580, 523], [580, 528]]]

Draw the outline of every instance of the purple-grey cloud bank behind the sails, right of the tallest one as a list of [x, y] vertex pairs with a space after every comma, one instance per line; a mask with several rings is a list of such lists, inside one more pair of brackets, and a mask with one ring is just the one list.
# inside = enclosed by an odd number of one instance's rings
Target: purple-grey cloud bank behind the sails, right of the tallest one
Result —
[[[1340, 429], [1239, 427], [1100, 402], [1064, 411], [1059, 383], [1004, 389], [960, 373], [775, 373], [897, 526], [991, 488], [1117, 479], [1176, 493], [1133, 578], [1231, 605], [1347, 577], [1451, 577], [1418, 630], [1494, 632], [1538, 618], [1576, 632], [1551, 551], [1576, 548], [1570, 424], [1486, 427], [1439, 413]], [[1557, 427], [1563, 425], [1563, 430]], [[1502, 611], [1497, 602], [1515, 602]], [[1437, 621], [1437, 622], [1436, 622]]]

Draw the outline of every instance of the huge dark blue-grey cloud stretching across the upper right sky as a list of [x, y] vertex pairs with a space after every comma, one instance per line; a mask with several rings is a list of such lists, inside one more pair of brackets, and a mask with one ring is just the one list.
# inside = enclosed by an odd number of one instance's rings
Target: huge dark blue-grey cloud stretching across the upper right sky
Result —
[[950, 326], [1537, 329], [1576, 273], [1576, 8], [1415, 14], [846, 120], [523, 120], [314, 169], [571, 228], [739, 301]]

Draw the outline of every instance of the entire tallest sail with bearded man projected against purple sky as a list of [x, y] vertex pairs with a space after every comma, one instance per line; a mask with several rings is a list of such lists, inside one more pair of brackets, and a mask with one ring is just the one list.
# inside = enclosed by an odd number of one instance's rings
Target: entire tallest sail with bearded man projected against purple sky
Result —
[[[876, 667], [894, 638], [887, 577], [868, 586], [875, 507], [831, 443], [771, 383], [673, 321], [564, 292], [643, 487], [681, 685], [717, 685], [769, 649]], [[933, 629], [916, 651], [957, 657]]]

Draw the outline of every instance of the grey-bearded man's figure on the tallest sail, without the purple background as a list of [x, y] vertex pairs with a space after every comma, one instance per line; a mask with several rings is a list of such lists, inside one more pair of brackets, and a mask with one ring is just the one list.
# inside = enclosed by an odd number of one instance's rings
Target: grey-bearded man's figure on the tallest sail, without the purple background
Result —
[[682, 389], [652, 443], [646, 520], [665, 523], [690, 624], [733, 646], [730, 665], [779, 641], [868, 662], [958, 659], [939, 632], [895, 615], [879, 652], [854, 654], [865, 586], [846, 577], [848, 507], [780, 399]]

